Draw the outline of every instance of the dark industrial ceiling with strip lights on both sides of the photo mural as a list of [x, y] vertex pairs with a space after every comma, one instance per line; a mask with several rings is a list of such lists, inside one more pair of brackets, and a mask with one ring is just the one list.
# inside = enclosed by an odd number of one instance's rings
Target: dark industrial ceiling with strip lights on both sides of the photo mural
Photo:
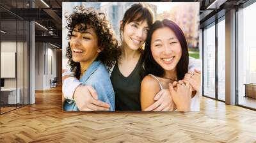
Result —
[[[61, 6], [64, 1], [65, 0], [1, 0], [1, 27], [2, 29], [6, 27], [4, 31], [12, 31], [10, 32], [12, 34], [8, 36], [16, 37], [17, 34], [22, 33], [24, 27], [22, 22], [18, 22], [18, 31], [17, 33], [13, 32], [13, 29], [16, 28], [16, 24], [12, 24], [13, 20], [35, 20], [38, 23], [35, 24], [36, 41], [47, 41], [61, 47]], [[200, 2], [200, 26], [203, 26], [207, 23], [207, 20], [211, 19], [211, 17], [221, 10], [224, 11], [225, 14], [225, 10], [239, 6], [246, 1], [248, 0], [187, 0], [186, 2]], [[28, 29], [25, 27], [25, 30]]]

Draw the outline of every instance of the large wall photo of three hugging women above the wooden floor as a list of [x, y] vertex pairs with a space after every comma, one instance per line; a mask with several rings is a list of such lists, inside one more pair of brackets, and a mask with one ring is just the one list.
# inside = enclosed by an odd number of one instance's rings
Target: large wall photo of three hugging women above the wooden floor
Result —
[[63, 2], [63, 111], [199, 111], [199, 3]]

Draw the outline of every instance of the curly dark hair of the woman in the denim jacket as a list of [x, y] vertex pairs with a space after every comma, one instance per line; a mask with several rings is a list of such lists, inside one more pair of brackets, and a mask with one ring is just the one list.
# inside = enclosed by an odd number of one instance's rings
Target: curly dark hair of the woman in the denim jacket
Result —
[[[72, 31], [78, 25], [77, 29], [79, 33], [83, 33], [86, 29], [94, 29], [98, 36], [98, 45], [102, 47], [102, 51], [95, 61], [102, 61], [106, 65], [108, 70], [118, 61], [121, 51], [118, 49], [118, 41], [113, 36], [113, 28], [104, 13], [100, 13], [93, 8], [85, 8], [84, 6], [76, 6], [73, 13], [66, 17], [67, 19], [67, 40], [72, 37]], [[80, 63], [72, 60], [72, 50], [68, 41], [67, 53], [68, 64], [70, 65], [70, 71], [75, 73], [77, 79], [79, 79]]]

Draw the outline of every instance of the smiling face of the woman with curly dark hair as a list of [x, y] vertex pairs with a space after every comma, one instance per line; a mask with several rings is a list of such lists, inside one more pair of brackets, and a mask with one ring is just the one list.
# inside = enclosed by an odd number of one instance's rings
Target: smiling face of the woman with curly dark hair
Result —
[[72, 31], [70, 47], [74, 62], [87, 63], [94, 61], [99, 55], [98, 36], [94, 29], [86, 29], [84, 33], [78, 31], [77, 25]]

